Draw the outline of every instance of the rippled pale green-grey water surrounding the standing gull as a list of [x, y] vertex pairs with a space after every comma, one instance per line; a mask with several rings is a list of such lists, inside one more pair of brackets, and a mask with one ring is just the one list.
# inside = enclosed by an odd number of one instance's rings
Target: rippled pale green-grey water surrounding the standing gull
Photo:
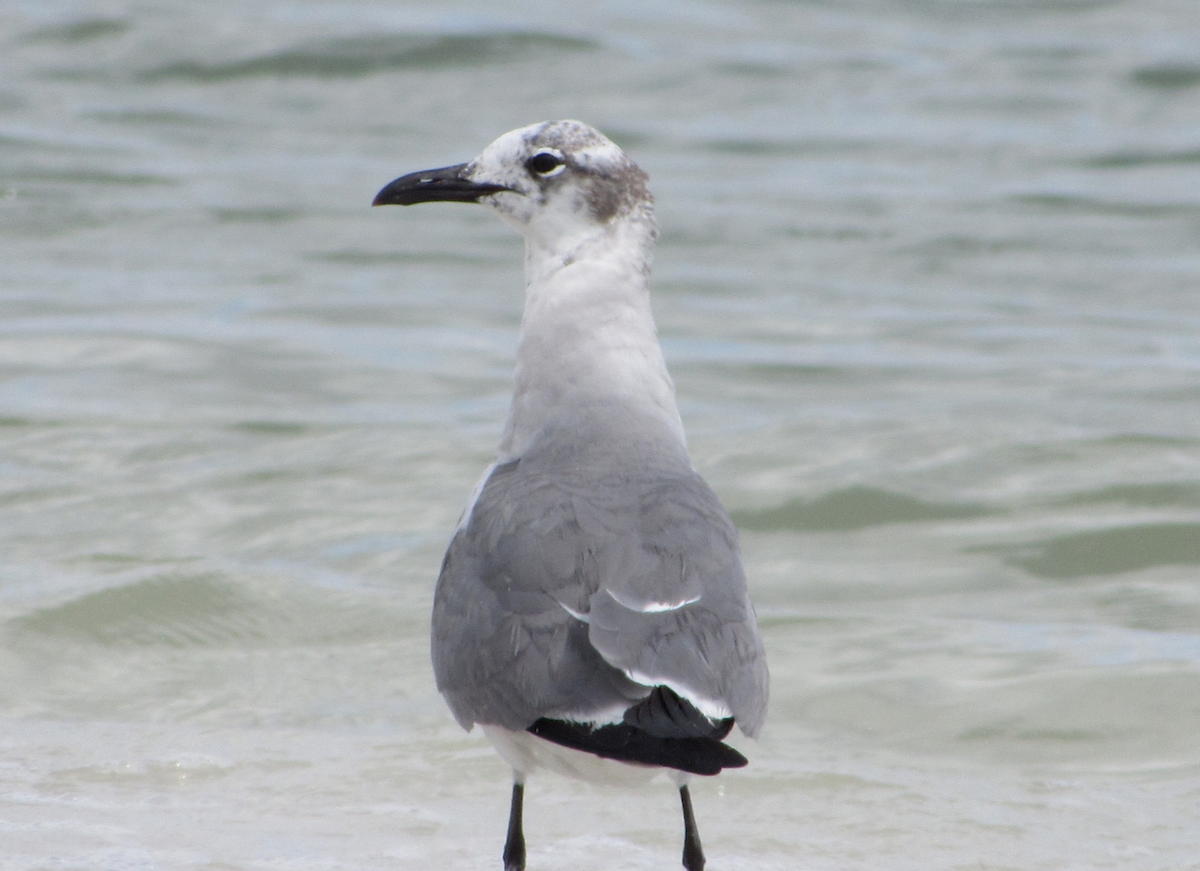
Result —
[[[5, 5], [0, 869], [499, 867], [426, 638], [520, 241], [368, 204], [563, 116], [772, 663], [709, 867], [1200, 869], [1194, 0]], [[677, 817], [536, 779], [530, 871]]]

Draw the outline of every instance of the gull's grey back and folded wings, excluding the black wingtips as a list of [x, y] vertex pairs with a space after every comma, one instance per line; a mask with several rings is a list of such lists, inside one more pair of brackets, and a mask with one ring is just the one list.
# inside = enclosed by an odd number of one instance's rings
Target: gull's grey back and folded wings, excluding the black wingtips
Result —
[[691, 469], [497, 467], [442, 566], [433, 667], [467, 727], [619, 715], [656, 685], [751, 735], [766, 716], [737, 534]]

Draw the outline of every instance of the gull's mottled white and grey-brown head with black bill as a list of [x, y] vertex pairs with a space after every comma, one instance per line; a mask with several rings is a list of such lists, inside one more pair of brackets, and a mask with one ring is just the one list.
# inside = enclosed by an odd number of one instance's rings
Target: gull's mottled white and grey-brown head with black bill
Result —
[[653, 238], [647, 176], [612, 140], [582, 121], [514, 130], [469, 163], [409, 173], [374, 205], [482, 203], [530, 242], [552, 250], [616, 223], [644, 224]]

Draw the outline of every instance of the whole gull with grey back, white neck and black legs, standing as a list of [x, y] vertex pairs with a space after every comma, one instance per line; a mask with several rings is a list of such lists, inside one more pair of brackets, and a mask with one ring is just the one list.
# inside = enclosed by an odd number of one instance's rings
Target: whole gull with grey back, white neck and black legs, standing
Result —
[[688, 458], [647, 276], [647, 176], [580, 121], [505, 133], [410, 173], [374, 205], [482, 203], [526, 240], [516, 388], [494, 463], [433, 599], [438, 690], [512, 767], [505, 871], [526, 863], [526, 776], [626, 781], [666, 769], [683, 864], [704, 867], [691, 775], [746, 764], [767, 662], [737, 531]]

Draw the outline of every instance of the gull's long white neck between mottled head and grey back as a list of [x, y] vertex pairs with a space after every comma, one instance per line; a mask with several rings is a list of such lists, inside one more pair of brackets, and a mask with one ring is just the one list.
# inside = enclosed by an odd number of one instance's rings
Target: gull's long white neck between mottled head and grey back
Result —
[[622, 456], [686, 462], [683, 424], [650, 313], [653, 227], [625, 224], [526, 248], [516, 388], [500, 458]]

